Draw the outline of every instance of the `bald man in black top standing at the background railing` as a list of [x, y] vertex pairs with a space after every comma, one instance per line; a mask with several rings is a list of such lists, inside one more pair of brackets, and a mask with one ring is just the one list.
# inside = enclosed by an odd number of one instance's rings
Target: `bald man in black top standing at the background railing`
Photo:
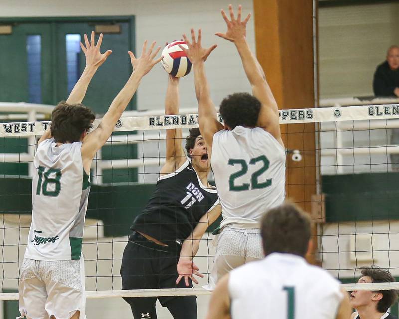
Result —
[[[399, 47], [391, 46], [387, 60], [381, 63], [374, 73], [373, 91], [375, 96], [399, 97]], [[391, 130], [391, 144], [399, 144], [399, 129]], [[391, 166], [399, 170], [399, 154], [391, 154]]]

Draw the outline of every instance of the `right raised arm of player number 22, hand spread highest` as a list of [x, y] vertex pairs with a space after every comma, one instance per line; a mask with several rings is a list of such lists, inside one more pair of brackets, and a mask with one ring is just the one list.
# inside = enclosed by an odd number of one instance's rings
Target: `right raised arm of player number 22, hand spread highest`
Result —
[[238, 50], [245, 74], [252, 87], [252, 93], [261, 103], [257, 126], [264, 128], [283, 145], [276, 100], [274, 99], [273, 93], [266, 81], [262, 67], [246, 41], [246, 24], [251, 17], [251, 14], [248, 14], [247, 17], [241, 21], [241, 5], [238, 6], [237, 18], [234, 16], [231, 4], [228, 6], [228, 9], [230, 19], [227, 17], [224, 10], [221, 10], [223, 19], [227, 24], [226, 33], [218, 32], [215, 34], [223, 39], [233, 42]]

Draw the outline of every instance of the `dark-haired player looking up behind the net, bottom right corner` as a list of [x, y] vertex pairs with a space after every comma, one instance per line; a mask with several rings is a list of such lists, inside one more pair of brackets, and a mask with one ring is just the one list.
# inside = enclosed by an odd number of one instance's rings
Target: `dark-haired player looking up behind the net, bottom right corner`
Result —
[[[379, 267], [364, 267], [362, 277], [358, 283], [388, 283], [395, 282], [395, 278], [386, 269]], [[398, 298], [397, 290], [354, 290], [351, 293], [351, 306], [356, 309], [351, 319], [384, 318], [397, 319], [387, 313]]]

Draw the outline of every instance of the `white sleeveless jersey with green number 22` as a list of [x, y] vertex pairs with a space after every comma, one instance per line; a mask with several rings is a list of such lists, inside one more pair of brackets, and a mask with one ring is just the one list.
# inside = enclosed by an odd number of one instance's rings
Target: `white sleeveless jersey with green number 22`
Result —
[[257, 228], [285, 198], [285, 150], [262, 128], [237, 126], [213, 135], [211, 166], [222, 206], [221, 227]]

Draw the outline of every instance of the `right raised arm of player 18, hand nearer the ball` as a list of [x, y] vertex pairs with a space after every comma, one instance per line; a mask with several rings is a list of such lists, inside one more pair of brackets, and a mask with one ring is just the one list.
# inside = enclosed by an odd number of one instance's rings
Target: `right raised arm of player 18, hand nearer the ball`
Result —
[[100, 125], [83, 140], [82, 156], [84, 160], [90, 160], [91, 163], [97, 150], [100, 149], [111, 136], [116, 122], [121, 117], [123, 111], [125, 111], [126, 106], [136, 92], [143, 76], [145, 76], [155, 64], [161, 61], [162, 57], [155, 59], [160, 47], [153, 52], [154, 46], [155, 42], [153, 42], [147, 50], [147, 41], [145, 41], [139, 58], [136, 58], [132, 52], [128, 52], [133, 66], [133, 72], [125, 86], [112, 101]]

